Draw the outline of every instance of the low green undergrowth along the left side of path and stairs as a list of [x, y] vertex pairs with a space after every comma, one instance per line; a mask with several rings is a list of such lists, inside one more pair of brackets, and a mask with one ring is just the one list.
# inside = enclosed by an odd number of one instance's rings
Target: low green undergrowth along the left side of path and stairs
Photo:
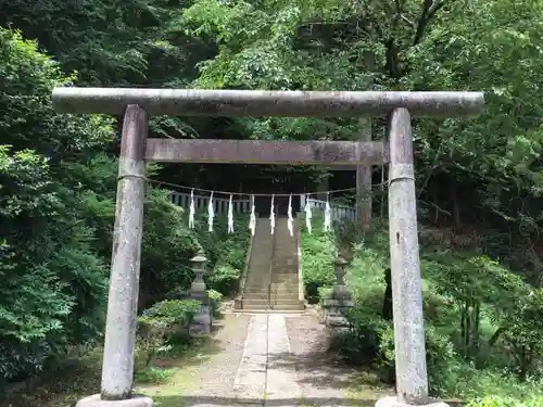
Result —
[[[207, 233], [204, 232], [203, 217], [197, 216], [198, 230], [193, 233], [198, 239], [192, 239], [192, 242], [197, 241], [207, 257], [204, 278], [215, 319], [222, 317], [218, 306], [223, 297], [237, 289], [241, 276], [250, 238], [248, 228], [241, 226], [248, 222], [245, 220], [244, 216], [238, 216], [236, 224], [240, 225], [239, 229], [228, 234], [226, 217], [219, 216], [214, 225], [216, 232]], [[193, 252], [194, 247], [191, 250]], [[168, 285], [169, 291], [162, 294], [160, 301], [152, 301], [138, 318], [134, 378], [140, 385], [168, 382], [179, 360], [205, 347], [207, 341], [206, 338], [191, 338], [188, 330], [189, 321], [200, 308], [198, 302], [187, 300], [187, 281], [190, 282], [192, 277], [186, 278], [177, 269], [162, 270], [161, 275], [165, 276], [164, 285]], [[75, 405], [81, 396], [97, 393], [102, 356], [98, 343], [89, 342], [77, 357], [60, 359], [54, 370], [43, 371], [37, 378], [40, 384], [25, 389], [24, 393], [4, 392], [0, 406], [67, 407]]]

